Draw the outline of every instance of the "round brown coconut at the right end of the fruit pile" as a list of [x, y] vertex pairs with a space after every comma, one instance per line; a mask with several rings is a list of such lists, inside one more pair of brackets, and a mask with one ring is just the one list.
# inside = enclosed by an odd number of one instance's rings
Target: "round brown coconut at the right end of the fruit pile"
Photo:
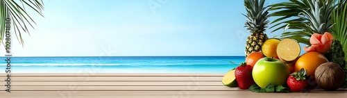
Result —
[[337, 63], [323, 63], [314, 72], [314, 78], [324, 90], [336, 90], [344, 84], [344, 70]]

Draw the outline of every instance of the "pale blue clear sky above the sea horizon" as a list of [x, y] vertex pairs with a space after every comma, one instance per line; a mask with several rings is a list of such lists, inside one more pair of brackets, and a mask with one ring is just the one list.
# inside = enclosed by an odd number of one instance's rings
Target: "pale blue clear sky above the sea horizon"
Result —
[[242, 0], [44, 0], [12, 56], [244, 56], [242, 13]]

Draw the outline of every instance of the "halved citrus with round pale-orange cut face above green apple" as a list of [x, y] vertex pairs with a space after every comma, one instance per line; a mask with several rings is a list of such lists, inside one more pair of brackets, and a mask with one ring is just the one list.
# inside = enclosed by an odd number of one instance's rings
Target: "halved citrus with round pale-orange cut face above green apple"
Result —
[[283, 63], [291, 63], [300, 55], [301, 47], [295, 40], [285, 38], [278, 43], [276, 52]]

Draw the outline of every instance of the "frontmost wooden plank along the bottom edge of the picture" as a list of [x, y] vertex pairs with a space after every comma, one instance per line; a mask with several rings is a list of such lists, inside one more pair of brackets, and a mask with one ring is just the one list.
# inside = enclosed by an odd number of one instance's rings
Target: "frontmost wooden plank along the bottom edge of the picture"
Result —
[[146, 92], [0, 92], [1, 97], [4, 98], [344, 98], [347, 96], [346, 92], [310, 92], [310, 93], [254, 93], [249, 91], [146, 91]]

